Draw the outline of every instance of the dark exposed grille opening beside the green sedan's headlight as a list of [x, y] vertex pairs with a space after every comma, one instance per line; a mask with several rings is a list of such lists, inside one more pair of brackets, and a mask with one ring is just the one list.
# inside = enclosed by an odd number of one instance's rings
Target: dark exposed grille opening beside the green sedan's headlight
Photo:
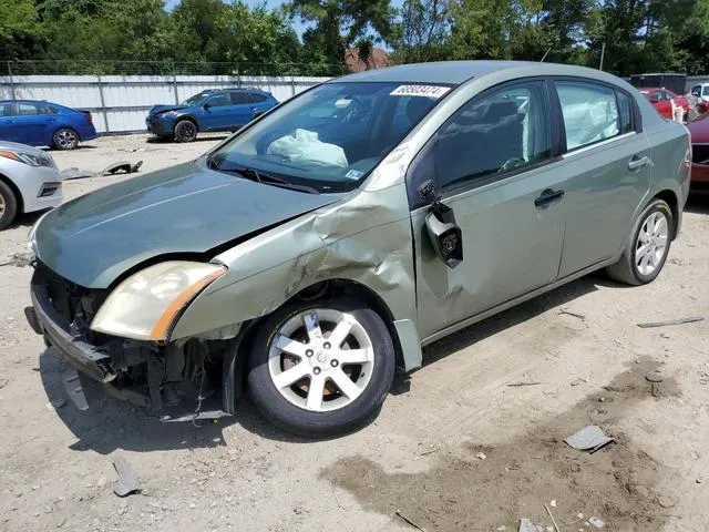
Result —
[[76, 285], [55, 274], [40, 260], [37, 260], [34, 268], [33, 283], [44, 285], [52, 307], [64, 320], [62, 325], [68, 326], [74, 336], [90, 344], [97, 344], [100, 339], [89, 329], [89, 326], [107, 297], [109, 290], [90, 289]]

